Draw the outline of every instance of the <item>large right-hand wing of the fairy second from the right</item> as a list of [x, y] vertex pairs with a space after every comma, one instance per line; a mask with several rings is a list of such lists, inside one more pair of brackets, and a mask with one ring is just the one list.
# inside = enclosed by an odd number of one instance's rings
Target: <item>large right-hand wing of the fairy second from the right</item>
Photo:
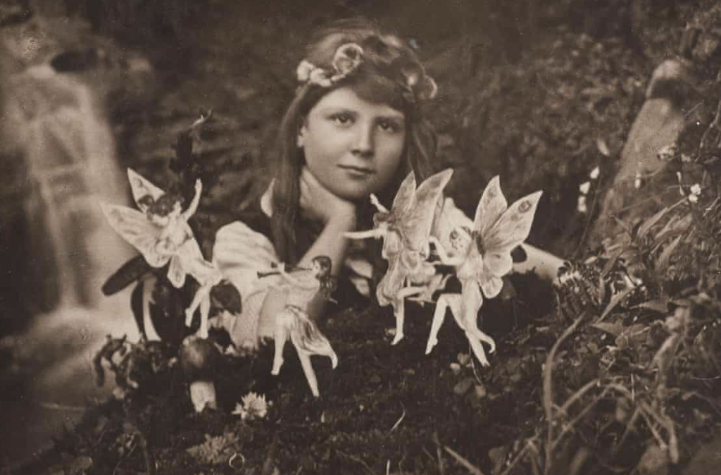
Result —
[[428, 243], [436, 204], [452, 175], [453, 170], [448, 168], [426, 178], [415, 190], [412, 200], [410, 200], [411, 206], [402, 214], [397, 215], [404, 243], [409, 248], [423, 250], [425, 244]]

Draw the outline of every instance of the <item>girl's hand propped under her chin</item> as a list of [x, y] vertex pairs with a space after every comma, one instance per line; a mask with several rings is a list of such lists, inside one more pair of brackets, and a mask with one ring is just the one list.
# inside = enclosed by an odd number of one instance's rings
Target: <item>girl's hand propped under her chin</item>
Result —
[[304, 217], [317, 219], [324, 225], [340, 225], [346, 230], [355, 229], [355, 204], [339, 198], [322, 186], [317, 178], [303, 167], [301, 171], [301, 212]]

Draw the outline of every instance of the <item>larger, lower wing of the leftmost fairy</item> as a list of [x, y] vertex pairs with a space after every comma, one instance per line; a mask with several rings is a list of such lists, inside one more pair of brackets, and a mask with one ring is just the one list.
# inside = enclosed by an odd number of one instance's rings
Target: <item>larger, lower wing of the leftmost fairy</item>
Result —
[[112, 229], [140, 251], [151, 266], [162, 267], [169, 261], [168, 254], [156, 250], [162, 227], [154, 225], [136, 209], [117, 204], [103, 203], [100, 206]]

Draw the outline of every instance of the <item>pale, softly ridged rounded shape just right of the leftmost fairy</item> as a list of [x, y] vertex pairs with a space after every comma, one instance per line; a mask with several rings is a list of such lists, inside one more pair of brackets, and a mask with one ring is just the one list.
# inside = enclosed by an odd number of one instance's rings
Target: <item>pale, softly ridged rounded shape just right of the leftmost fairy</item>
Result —
[[258, 278], [258, 272], [278, 262], [273, 244], [265, 235], [255, 232], [244, 222], [231, 222], [221, 227], [213, 246], [213, 262], [243, 299], [261, 289], [277, 284], [277, 276]]

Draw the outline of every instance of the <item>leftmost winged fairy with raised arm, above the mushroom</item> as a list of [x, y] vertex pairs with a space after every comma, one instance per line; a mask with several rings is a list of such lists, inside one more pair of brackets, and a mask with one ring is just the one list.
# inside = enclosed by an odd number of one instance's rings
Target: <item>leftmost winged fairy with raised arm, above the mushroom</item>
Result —
[[131, 243], [154, 268], [169, 263], [167, 278], [177, 288], [185, 284], [187, 274], [198, 281], [200, 288], [186, 310], [186, 324], [190, 325], [195, 310], [200, 307], [200, 330], [198, 335], [208, 334], [209, 294], [214, 285], [221, 282], [222, 274], [217, 266], [203, 258], [193, 230], [187, 224], [195, 214], [203, 189], [200, 180], [195, 182], [195, 196], [185, 212], [182, 199], [165, 193], [146, 178], [128, 168], [133, 199], [138, 209], [116, 204], [101, 204], [112, 228]]

